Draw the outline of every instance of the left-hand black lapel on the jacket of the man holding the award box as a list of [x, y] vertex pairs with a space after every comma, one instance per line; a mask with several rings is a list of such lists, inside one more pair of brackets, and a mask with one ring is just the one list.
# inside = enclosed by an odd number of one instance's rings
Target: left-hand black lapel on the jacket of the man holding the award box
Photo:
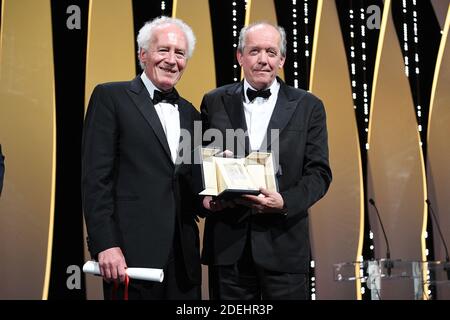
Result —
[[[245, 141], [244, 148], [245, 154], [249, 153], [250, 141], [247, 134], [247, 122], [245, 121], [244, 115], [244, 105], [243, 105], [243, 93], [242, 88], [244, 87], [243, 82], [237, 83], [236, 86], [231, 87], [226, 94], [223, 96], [223, 104], [225, 110], [230, 118], [231, 125], [234, 130], [244, 130]], [[242, 141], [238, 139], [242, 145]]]

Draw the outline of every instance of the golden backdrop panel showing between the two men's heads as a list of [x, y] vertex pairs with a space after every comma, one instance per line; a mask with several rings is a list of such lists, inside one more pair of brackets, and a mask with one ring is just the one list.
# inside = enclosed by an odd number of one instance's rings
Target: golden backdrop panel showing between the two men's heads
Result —
[[194, 55], [176, 88], [180, 94], [200, 109], [203, 95], [216, 87], [213, 36], [208, 0], [175, 0], [173, 16], [193, 29], [197, 38]]

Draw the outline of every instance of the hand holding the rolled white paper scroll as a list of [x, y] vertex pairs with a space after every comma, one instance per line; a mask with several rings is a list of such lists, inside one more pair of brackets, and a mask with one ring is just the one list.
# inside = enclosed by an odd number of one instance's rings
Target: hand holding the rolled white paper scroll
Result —
[[106, 249], [98, 254], [98, 264], [103, 279], [123, 282], [125, 280], [125, 270], [127, 264], [122, 250], [119, 247]]

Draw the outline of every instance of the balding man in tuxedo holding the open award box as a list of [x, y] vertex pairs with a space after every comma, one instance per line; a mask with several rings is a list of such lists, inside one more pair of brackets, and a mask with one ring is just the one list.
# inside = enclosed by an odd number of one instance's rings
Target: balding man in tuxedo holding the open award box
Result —
[[[247, 132], [244, 141], [222, 145], [239, 148], [242, 143], [246, 154], [271, 150], [279, 159], [279, 192], [261, 188], [259, 196], [245, 195], [233, 203], [203, 200], [212, 211], [202, 253], [212, 299], [309, 296], [308, 208], [324, 196], [332, 176], [324, 106], [277, 77], [285, 57], [281, 27], [256, 23], [243, 28], [237, 59], [244, 80], [217, 88], [202, 101], [204, 129], [219, 129], [224, 137], [227, 129]], [[276, 141], [271, 141], [271, 130], [278, 130]]]

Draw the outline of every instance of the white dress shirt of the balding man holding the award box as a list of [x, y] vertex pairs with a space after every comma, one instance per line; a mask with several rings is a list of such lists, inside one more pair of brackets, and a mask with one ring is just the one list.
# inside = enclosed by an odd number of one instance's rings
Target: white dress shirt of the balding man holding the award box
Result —
[[275, 79], [268, 88], [271, 93], [270, 97], [268, 99], [257, 97], [253, 102], [250, 102], [247, 97], [248, 88], [255, 90], [247, 80], [244, 80], [244, 114], [247, 123], [250, 147], [251, 150], [259, 150], [264, 137], [266, 136], [273, 109], [275, 109], [280, 84]]

